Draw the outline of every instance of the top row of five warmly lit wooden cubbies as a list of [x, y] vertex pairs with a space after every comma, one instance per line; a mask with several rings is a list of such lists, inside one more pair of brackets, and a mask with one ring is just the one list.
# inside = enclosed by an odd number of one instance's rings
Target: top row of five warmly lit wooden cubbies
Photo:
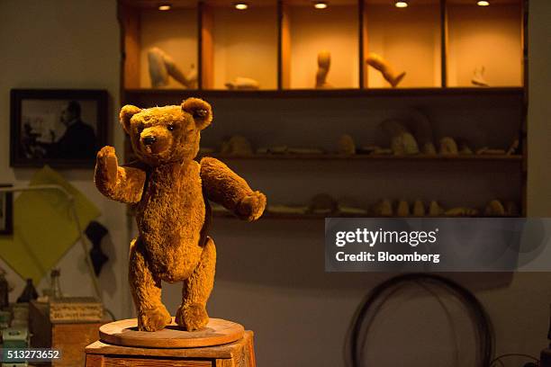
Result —
[[331, 0], [317, 10], [309, 0], [259, 0], [236, 11], [230, 0], [174, 0], [159, 12], [157, 1], [119, 0], [124, 89], [149, 87], [151, 47], [184, 69], [198, 67], [205, 90], [225, 90], [237, 76], [257, 79], [262, 90], [313, 89], [321, 50], [331, 53], [328, 82], [337, 90], [390, 87], [366, 65], [370, 52], [406, 72], [400, 89], [468, 86], [476, 67], [485, 67], [490, 85], [523, 85], [521, 0], [415, 3]]

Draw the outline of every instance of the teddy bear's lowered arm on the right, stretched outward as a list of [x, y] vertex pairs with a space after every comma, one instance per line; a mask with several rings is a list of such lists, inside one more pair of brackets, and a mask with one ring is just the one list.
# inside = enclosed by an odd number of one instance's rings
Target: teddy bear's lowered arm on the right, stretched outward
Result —
[[266, 196], [252, 191], [248, 183], [218, 159], [201, 159], [201, 180], [208, 199], [218, 202], [240, 219], [260, 218], [266, 208]]

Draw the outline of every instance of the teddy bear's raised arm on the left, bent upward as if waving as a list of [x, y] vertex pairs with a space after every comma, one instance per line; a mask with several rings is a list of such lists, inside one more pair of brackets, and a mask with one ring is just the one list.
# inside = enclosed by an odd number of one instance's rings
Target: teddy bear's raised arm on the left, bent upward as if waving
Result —
[[119, 166], [113, 147], [97, 153], [95, 186], [109, 199], [135, 204], [141, 200], [146, 173], [139, 168]]

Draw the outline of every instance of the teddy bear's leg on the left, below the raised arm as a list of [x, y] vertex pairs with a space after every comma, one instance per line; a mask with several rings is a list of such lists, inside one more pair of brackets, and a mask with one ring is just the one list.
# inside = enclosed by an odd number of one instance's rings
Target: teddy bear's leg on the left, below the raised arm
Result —
[[128, 279], [138, 312], [138, 329], [157, 331], [172, 322], [161, 303], [161, 281], [149, 269], [140, 237], [131, 242]]

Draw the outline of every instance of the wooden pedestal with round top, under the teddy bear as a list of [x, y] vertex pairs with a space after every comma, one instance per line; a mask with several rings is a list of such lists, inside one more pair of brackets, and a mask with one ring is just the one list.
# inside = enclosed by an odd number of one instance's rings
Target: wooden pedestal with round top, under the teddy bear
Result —
[[140, 332], [134, 318], [104, 325], [100, 337], [86, 347], [86, 367], [256, 366], [253, 333], [217, 318], [192, 333], [174, 323], [155, 333]]

